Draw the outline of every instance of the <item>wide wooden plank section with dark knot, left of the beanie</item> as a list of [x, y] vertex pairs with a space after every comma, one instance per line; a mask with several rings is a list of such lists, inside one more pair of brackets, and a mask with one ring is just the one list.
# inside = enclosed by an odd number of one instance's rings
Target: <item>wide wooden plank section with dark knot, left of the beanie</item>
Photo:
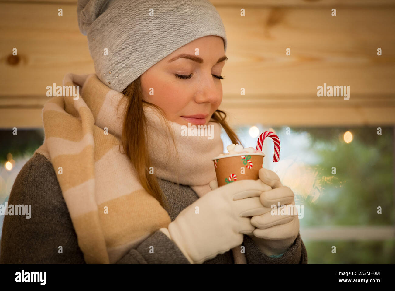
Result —
[[[63, 16], [58, 16], [58, 7], [0, 4], [2, 95], [45, 96], [46, 87], [62, 85], [68, 72], [94, 72], [86, 36], [78, 29], [76, 7], [64, 6]], [[7, 61], [13, 48], [18, 49], [16, 65]]]

